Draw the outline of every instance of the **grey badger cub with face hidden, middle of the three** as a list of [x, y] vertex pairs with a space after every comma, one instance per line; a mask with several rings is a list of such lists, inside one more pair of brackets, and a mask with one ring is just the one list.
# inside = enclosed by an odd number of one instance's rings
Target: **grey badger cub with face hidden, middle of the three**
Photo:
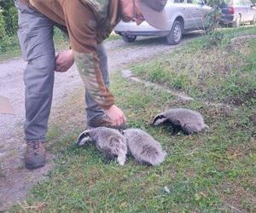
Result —
[[123, 135], [127, 141], [129, 152], [140, 164], [158, 165], [166, 157], [166, 152], [162, 150], [160, 143], [143, 130], [128, 129], [123, 130]]

